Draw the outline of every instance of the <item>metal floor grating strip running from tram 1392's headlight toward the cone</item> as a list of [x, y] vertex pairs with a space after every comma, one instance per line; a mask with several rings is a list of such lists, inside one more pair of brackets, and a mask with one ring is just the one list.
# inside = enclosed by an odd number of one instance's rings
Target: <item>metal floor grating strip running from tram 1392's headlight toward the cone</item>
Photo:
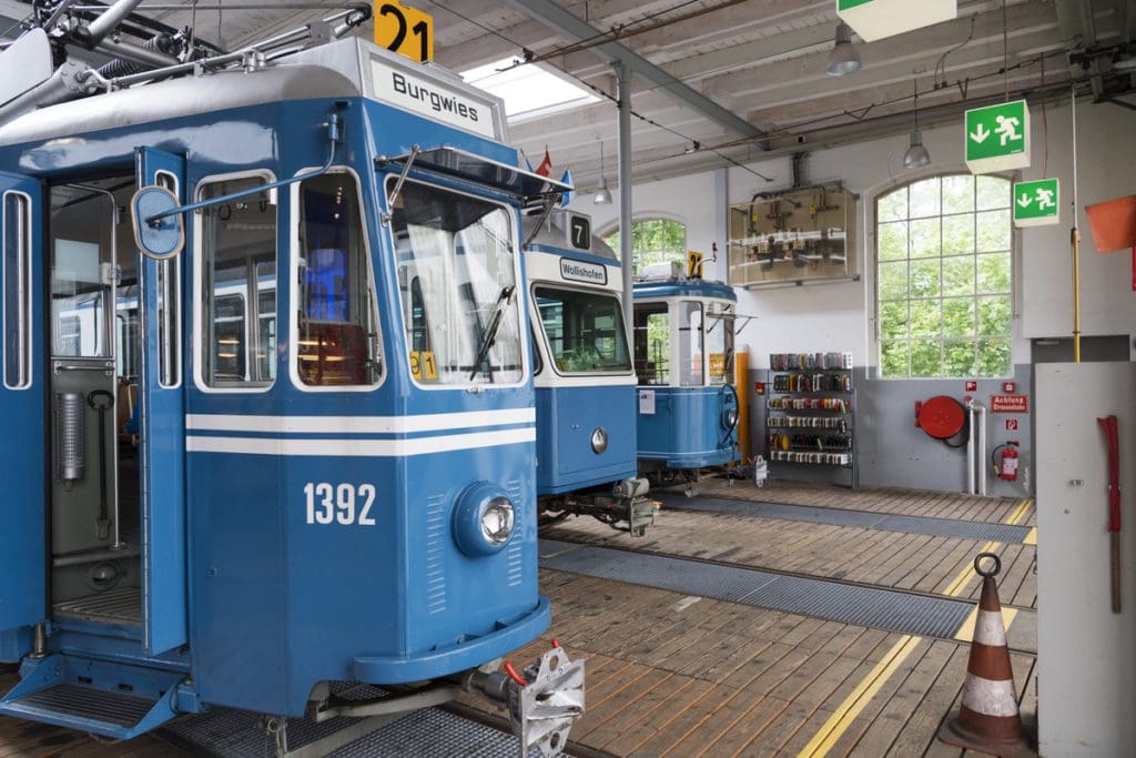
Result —
[[541, 568], [947, 640], [975, 608], [947, 598], [554, 540], [541, 540]]

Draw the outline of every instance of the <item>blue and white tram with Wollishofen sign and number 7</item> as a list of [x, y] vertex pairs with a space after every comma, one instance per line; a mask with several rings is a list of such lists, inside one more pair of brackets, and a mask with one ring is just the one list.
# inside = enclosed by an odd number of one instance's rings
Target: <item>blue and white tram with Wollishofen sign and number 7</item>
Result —
[[580, 214], [533, 216], [525, 232], [538, 508], [546, 522], [588, 515], [641, 536], [658, 506], [637, 475], [619, 260]]

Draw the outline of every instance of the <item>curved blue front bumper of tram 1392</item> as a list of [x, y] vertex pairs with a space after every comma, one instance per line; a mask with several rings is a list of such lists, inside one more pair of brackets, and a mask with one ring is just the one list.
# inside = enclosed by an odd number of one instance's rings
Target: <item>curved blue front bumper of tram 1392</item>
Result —
[[501, 658], [538, 638], [552, 622], [549, 599], [541, 595], [536, 608], [495, 632], [458, 644], [408, 656], [360, 656], [351, 667], [357, 682], [403, 684], [458, 674]]

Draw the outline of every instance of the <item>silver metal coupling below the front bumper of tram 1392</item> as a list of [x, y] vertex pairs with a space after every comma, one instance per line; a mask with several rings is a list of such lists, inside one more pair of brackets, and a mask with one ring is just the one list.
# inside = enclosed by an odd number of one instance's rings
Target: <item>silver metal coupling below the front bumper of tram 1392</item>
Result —
[[468, 692], [508, 706], [521, 758], [561, 755], [568, 733], [584, 715], [584, 661], [568, 658], [554, 640], [552, 644], [552, 650], [521, 672], [506, 661], [501, 670], [470, 672], [463, 682]]

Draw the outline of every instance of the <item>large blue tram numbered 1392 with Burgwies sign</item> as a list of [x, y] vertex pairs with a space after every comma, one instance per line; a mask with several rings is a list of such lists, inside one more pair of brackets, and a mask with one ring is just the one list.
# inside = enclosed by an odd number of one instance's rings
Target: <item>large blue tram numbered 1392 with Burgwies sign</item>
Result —
[[550, 620], [519, 209], [568, 188], [351, 13], [0, 106], [0, 714], [131, 738], [465, 689], [551, 752], [582, 710], [562, 651], [494, 665]]

